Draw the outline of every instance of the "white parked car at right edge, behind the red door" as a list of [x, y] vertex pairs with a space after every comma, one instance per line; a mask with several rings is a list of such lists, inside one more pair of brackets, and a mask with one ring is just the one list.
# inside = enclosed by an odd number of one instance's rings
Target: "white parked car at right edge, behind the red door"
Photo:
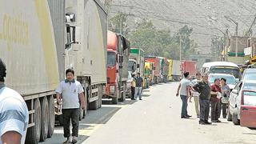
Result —
[[[241, 99], [242, 95], [244, 95], [243, 90], [256, 90], [256, 81], [247, 80], [238, 82], [238, 84], [234, 87], [234, 90], [230, 93], [230, 105], [228, 110], [228, 121], [234, 123], [234, 125], [240, 124], [240, 110], [241, 110]], [[246, 96], [247, 97], [247, 96]], [[256, 102], [254, 103], [256, 105]]]

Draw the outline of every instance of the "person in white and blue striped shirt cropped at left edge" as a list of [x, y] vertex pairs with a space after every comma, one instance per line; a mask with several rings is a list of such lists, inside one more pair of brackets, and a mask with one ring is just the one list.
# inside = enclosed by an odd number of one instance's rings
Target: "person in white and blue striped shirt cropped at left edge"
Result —
[[0, 58], [0, 144], [25, 143], [29, 112], [18, 92], [4, 85], [6, 65]]

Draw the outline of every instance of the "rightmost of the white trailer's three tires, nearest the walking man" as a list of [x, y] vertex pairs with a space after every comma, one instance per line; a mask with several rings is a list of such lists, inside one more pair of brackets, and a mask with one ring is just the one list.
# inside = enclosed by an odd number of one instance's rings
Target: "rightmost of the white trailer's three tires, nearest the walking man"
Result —
[[49, 103], [48, 138], [51, 138], [54, 134], [54, 123], [55, 123], [54, 97], [52, 95], [48, 98], [48, 103]]

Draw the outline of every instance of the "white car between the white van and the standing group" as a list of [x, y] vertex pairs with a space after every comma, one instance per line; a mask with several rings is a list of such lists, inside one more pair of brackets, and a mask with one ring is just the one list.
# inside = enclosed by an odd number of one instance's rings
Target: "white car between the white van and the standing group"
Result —
[[230, 74], [209, 74], [209, 82], [210, 84], [214, 83], [214, 79], [226, 78], [226, 84], [230, 87], [230, 90], [234, 89], [234, 86], [238, 83], [238, 80], [234, 78], [233, 75]]

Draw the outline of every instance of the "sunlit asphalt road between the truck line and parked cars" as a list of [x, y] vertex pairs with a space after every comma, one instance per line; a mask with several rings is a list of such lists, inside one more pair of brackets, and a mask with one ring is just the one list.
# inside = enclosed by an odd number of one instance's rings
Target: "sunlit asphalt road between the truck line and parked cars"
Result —
[[[182, 101], [175, 96], [178, 83], [151, 86], [142, 101], [109, 102], [100, 110], [89, 111], [80, 122], [80, 141], [85, 144], [166, 144], [166, 143], [256, 143], [256, 130], [234, 126], [226, 119], [211, 126], [198, 124], [194, 102], [188, 112], [193, 117], [181, 119]], [[43, 143], [62, 143], [62, 128]]]

